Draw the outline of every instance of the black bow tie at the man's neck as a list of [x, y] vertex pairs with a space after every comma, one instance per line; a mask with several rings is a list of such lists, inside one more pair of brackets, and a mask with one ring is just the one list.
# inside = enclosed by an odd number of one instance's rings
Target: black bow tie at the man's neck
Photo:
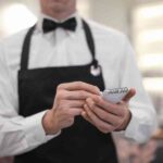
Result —
[[47, 20], [47, 18], [43, 20], [43, 23], [42, 23], [43, 33], [54, 30], [58, 27], [74, 32], [76, 28], [76, 20], [75, 20], [75, 17], [73, 17], [63, 23], [57, 23], [57, 22], [53, 22], [53, 21]]

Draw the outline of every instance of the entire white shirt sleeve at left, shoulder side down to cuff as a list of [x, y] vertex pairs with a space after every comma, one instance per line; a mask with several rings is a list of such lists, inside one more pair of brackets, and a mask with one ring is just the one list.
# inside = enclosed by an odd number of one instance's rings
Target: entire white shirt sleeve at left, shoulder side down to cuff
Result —
[[18, 115], [17, 92], [14, 92], [13, 85], [4, 48], [0, 43], [0, 156], [24, 153], [60, 134], [46, 136], [42, 127], [46, 111], [29, 117]]

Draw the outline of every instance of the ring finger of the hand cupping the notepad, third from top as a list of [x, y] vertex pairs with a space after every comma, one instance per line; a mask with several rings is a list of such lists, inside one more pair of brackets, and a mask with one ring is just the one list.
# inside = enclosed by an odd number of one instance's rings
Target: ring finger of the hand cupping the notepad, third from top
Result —
[[105, 122], [101, 121], [100, 118], [98, 118], [98, 116], [93, 112], [91, 112], [91, 110], [88, 106], [85, 106], [85, 111], [86, 111], [88, 117], [95, 124], [95, 126], [97, 126], [100, 130], [108, 133], [113, 129], [113, 126], [111, 124], [105, 123]]

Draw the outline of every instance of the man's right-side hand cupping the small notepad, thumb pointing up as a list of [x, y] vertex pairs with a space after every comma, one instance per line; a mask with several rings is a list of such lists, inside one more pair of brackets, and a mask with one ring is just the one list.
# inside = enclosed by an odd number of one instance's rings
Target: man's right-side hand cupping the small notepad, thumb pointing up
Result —
[[87, 98], [86, 104], [84, 105], [85, 111], [82, 115], [102, 133], [124, 130], [131, 117], [128, 103], [135, 93], [136, 90], [130, 89], [117, 104], [108, 102], [100, 96]]

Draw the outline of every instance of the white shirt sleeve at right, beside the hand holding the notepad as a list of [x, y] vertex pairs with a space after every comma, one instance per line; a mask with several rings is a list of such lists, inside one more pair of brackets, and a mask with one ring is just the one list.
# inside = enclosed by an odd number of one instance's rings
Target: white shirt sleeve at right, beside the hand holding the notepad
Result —
[[136, 88], [136, 96], [129, 102], [131, 120], [125, 130], [125, 136], [138, 142], [145, 142], [156, 129], [156, 112], [143, 89], [142, 77], [137, 67], [135, 53], [126, 37], [121, 66], [122, 87]]

